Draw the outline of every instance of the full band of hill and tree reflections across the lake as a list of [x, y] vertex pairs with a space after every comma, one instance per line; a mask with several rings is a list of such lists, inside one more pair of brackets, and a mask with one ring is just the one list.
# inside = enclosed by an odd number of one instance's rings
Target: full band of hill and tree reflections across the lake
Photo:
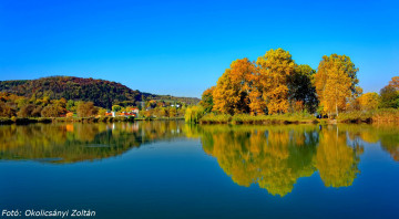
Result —
[[0, 159], [65, 164], [121, 155], [154, 140], [201, 139], [234, 182], [286, 196], [318, 173], [326, 187], [349, 187], [368, 144], [399, 160], [399, 128], [371, 125], [191, 126], [183, 122], [0, 126]]

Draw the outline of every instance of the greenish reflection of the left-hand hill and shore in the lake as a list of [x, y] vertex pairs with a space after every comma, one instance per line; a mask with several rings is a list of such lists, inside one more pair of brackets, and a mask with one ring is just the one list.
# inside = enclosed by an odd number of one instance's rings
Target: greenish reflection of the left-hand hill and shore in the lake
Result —
[[183, 136], [182, 123], [32, 124], [0, 126], [0, 159], [75, 163], [121, 155], [153, 140]]

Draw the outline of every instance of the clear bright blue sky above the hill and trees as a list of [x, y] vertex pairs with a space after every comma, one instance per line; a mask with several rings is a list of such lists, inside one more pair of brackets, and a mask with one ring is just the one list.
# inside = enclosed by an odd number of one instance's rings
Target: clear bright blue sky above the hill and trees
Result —
[[72, 75], [200, 97], [232, 61], [349, 55], [365, 92], [399, 75], [399, 1], [0, 0], [0, 81]]

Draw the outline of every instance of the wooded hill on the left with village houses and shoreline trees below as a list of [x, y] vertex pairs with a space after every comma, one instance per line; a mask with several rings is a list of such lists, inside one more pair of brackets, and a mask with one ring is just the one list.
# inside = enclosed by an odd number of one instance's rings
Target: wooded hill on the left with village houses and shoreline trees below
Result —
[[53, 76], [3, 81], [0, 124], [180, 119], [187, 105], [198, 102], [142, 93], [104, 80]]

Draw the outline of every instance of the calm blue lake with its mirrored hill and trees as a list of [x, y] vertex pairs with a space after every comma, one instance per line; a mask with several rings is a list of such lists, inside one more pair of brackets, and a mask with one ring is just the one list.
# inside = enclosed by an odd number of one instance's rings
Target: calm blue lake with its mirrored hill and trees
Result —
[[0, 126], [0, 210], [95, 218], [398, 218], [399, 127]]

